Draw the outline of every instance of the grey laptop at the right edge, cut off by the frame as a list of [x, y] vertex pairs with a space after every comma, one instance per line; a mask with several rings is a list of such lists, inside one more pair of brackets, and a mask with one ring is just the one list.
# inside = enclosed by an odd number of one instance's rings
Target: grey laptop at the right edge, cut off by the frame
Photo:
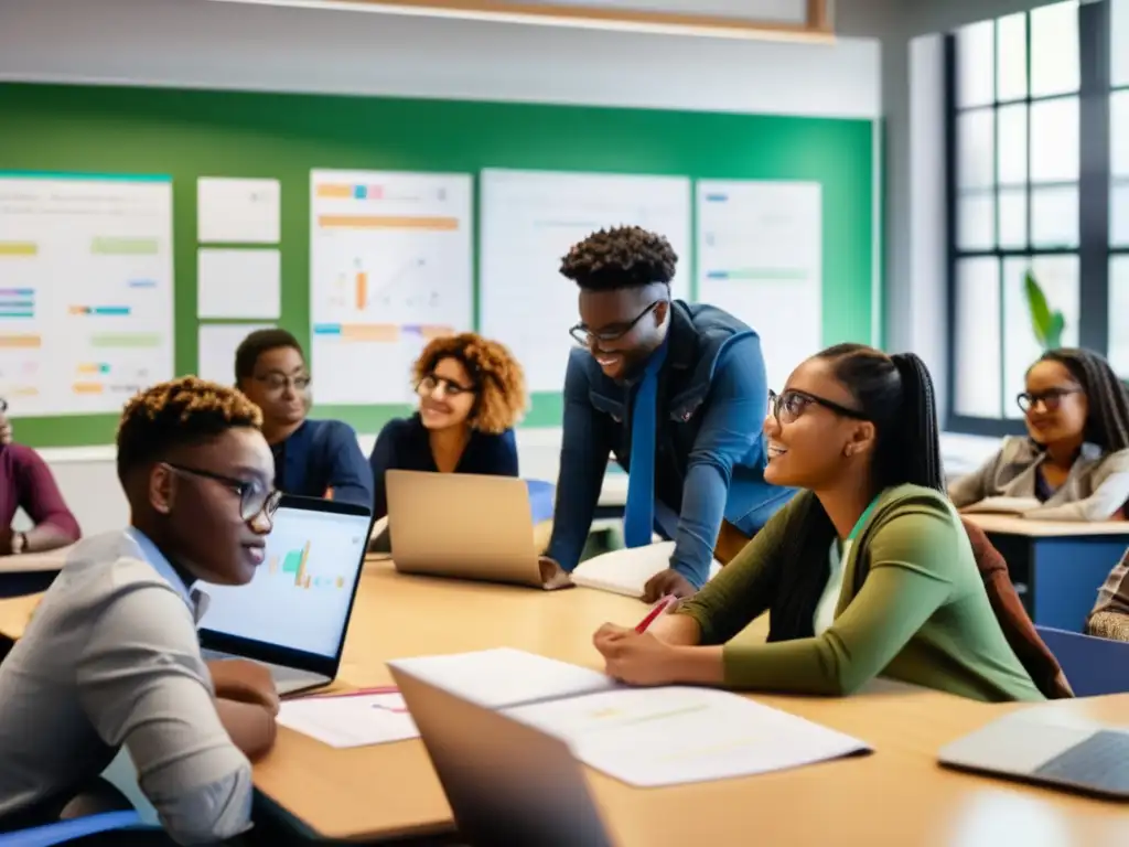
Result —
[[1056, 711], [1006, 715], [942, 749], [940, 763], [1129, 801], [1129, 726], [1103, 727]]

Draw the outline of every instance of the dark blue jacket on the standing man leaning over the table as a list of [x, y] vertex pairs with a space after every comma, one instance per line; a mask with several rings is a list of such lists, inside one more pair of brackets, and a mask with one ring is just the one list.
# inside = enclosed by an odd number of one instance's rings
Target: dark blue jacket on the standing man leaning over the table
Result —
[[[675, 541], [671, 567], [700, 587], [721, 518], [753, 535], [794, 491], [764, 481], [768, 385], [756, 333], [714, 306], [674, 300], [668, 344], [658, 386], [655, 514], [657, 529]], [[579, 561], [609, 453], [630, 472], [634, 387], [606, 377], [587, 350], [572, 351], [549, 545], [566, 570]]]

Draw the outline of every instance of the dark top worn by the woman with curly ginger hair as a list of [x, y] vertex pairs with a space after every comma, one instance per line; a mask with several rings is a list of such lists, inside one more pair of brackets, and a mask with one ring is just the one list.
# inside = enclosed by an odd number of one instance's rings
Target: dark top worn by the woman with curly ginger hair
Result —
[[[419, 413], [411, 418], [396, 418], [384, 425], [373, 454], [368, 457], [373, 472], [373, 516], [380, 519], [388, 514], [388, 498], [384, 488], [384, 474], [390, 470], [438, 472], [427, 427]], [[516, 477], [517, 440], [514, 430], [501, 435], [471, 433], [471, 440], [458, 460], [455, 473], [479, 473], [489, 477]]]

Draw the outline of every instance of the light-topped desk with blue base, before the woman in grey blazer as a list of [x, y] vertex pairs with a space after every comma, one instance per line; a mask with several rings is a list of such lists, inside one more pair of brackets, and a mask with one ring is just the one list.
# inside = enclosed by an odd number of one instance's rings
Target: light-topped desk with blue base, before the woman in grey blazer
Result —
[[1041, 627], [1085, 629], [1097, 590], [1129, 547], [1129, 522], [1027, 521], [963, 515], [987, 533], [1007, 560], [1012, 582]]

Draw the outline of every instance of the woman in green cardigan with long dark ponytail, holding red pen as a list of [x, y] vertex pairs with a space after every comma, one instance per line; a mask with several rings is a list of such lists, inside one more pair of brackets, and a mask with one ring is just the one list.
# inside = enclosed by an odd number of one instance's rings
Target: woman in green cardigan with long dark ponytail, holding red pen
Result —
[[[793, 372], [764, 477], [805, 489], [644, 635], [596, 634], [632, 684], [848, 695], [883, 674], [978, 700], [1042, 700], [1000, 630], [944, 495], [933, 383], [912, 353], [840, 344]], [[741, 631], [771, 611], [769, 643]]]

